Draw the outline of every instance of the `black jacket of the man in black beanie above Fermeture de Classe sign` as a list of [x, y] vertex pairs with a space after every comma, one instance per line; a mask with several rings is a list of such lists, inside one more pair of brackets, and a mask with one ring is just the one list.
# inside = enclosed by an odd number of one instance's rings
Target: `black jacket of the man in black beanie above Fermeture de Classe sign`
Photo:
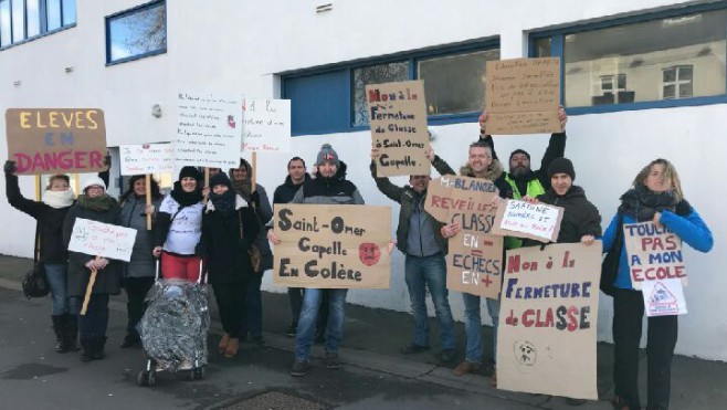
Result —
[[580, 242], [583, 235], [601, 236], [601, 214], [587, 198], [581, 187], [572, 186], [560, 197], [550, 189], [538, 197], [542, 203], [563, 208], [558, 243]]

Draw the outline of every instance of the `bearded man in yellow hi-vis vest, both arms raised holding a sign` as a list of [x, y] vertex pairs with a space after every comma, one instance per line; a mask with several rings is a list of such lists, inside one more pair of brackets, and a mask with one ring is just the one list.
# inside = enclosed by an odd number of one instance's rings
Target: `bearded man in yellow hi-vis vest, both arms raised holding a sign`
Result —
[[[480, 116], [480, 138], [484, 140], [493, 153], [493, 158], [497, 159], [495, 153], [495, 143], [491, 135], [487, 135], [487, 112], [483, 112]], [[501, 196], [507, 199], [520, 199], [525, 196], [537, 198], [544, 195], [550, 180], [547, 171], [550, 162], [566, 154], [566, 123], [568, 123], [568, 114], [563, 107], [560, 107], [558, 113], [560, 119], [561, 133], [550, 135], [548, 148], [542, 156], [540, 169], [534, 171], [530, 168], [530, 155], [524, 149], [516, 149], [509, 157], [509, 172], [503, 172], [502, 180], [497, 181], [497, 188], [501, 190]], [[506, 183], [502, 183], [506, 182]]]

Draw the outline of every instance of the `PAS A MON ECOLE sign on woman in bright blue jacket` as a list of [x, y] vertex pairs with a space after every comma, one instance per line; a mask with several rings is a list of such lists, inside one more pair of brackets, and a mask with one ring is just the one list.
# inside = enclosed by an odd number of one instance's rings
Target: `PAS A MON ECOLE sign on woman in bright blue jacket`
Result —
[[687, 285], [682, 240], [666, 227], [656, 228], [654, 222], [624, 223], [623, 240], [633, 288], [667, 278], [679, 278]]

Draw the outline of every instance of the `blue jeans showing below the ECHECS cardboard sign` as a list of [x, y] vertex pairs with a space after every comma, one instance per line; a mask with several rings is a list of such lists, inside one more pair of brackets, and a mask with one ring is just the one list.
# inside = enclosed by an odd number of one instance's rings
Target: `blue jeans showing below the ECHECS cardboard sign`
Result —
[[[467, 335], [467, 351], [465, 359], [471, 362], [482, 362], [482, 317], [480, 315], [480, 296], [462, 294], [464, 301], [464, 332]], [[497, 324], [499, 322], [499, 301], [485, 297], [487, 313], [493, 319], [493, 358], [497, 357]]]

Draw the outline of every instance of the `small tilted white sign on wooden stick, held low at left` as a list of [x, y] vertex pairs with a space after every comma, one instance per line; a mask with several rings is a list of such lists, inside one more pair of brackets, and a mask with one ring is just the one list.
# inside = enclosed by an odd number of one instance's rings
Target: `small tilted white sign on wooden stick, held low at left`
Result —
[[128, 262], [135, 241], [136, 229], [77, 218], [69, 251]]

